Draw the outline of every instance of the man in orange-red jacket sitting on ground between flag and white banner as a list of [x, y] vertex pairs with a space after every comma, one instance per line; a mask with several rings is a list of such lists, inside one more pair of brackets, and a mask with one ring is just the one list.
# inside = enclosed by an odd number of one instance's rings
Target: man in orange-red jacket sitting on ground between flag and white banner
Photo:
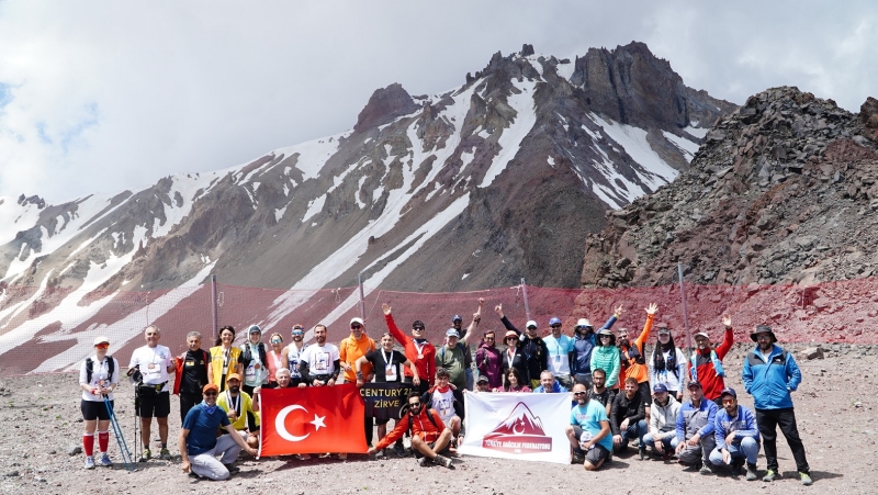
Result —
[[451, 430], [446, 428], [442, 418], [436, 410], [427, 408], [417, 392], [408, 394], [408, 410], [396, 423], [396, 427], [382, 438], [375, 447], [367, 453], [374, 455], [379, 450], [386, 449], [391, 443], [403, 438], [407, 431], [412, 434], [412, 450], [418, 459], [418, 464], [425, 466], [432, 462], [448, 469], [454, 469], [451, 459], [440, 455], [451, 442]]

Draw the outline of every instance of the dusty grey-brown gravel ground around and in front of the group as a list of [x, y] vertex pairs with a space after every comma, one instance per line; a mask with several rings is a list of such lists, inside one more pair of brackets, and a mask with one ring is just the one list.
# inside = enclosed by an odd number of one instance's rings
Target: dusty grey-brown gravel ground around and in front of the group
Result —
[[[829, 346], [825, 346], [829, 348]], [[413, 458], [369, 460], [351, 455], [347, 463], [333, 460], [254, 460], [243, 455], [241, 471], [226, 482], [194, 481], [180, 471], [179, 455], [173, 461], [138, 463], [127, 473], [122, 464], [112, 469], [82, 469], [81, 454], [69, 457], [71, 447], [81, 445], [79, 393], [74, 374], [30, 375], [3, 379], [0, 386], [0, 493], [216, 493], [240, 491], [261, 493], [485, 493], [515, 494], [537, 490], [574, 493], [719, 493], [730, 490], [759, 493], [876, 493], [876, 432], [878, 398], [875, 387], [878, 357], [876, 349], [842, 346], [826, 359], [797, 358], [803, 373], [802, 385], [793, 395], [799, 430], [808, 450], [814, 485], [803, 487], [795, 472], [786, 443], [778, 441], [784, 477], [775, 483], [746, 482], [743, 477], [701, 476], [684, 472], [679, 465], [661, 460], [640, 461], [635, 450], [617, 457], [605, 470], [585, 472], [577, 465], [516, 462], [464, 457], [457, 470], [418, 468]], [[792, 347], [801, 349], [801, 346]], [[743, 348], [725, 359], [728, 384], [742, 391], [740, 375]], [[133, 391], [120, 387], [117, 414], [130, 447], [134, 438]], [[742, 403], [752, 401], [742, 393]], [[176, 408], [177, 400], [171, 400]], [[179, 415], [171, 414], [171, 438], [179, 431]], [[155, 427], [154, 427], [155, 435]], [[110, 453], [120, 460], [111, 438]], [[97, 447], [97, 446], [95, 446]], [[176, 442], [171, 452], [177, 453]], [[156, 448], [155, 450], [158, 450]], [[154, 451], [155, 451], [154, 450]], [[765, 459], [759, 458], [759, 472]], [[595, 485], [598, 483], [598, 485]]]

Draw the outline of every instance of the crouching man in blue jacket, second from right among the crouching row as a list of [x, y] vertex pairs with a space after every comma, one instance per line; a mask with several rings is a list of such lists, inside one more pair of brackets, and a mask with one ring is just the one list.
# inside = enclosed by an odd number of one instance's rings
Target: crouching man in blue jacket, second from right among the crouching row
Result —
[[701, 384], [689, 382], [689, 400], [677, 413], [677, 459], [680, 464], [700, 469], [701, 474], [713, 474], [709, 460], [717, 447], [713, 437], [717, 404], [705, 398]]

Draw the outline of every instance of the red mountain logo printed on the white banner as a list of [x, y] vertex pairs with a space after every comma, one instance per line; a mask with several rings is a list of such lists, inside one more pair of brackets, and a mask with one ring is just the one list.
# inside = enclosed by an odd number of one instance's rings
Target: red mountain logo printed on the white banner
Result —
[[485, 435], [482, 447], [509, 453], [551, 452], [552, 437], [545, 435], [540, 418], [519, 402], [503, 423]]

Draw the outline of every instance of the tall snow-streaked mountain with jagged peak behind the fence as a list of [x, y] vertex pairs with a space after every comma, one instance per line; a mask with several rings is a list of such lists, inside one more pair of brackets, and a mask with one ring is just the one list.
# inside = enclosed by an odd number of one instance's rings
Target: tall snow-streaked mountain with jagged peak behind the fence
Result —
[[[180, 290], [170, 311], [211, 273], [300, 290], [248, 316], [267, 329], [308, 291], [359, 273], [367, 294], [522, 277], [577, 286], [605, 211], [687, 170], [734, 108], [686, 87], [641, 43], [573, 61], [525, 45], [439, 94], [379, 89], [351, 130], [247, 164], [59, 205], [2, 199], [0, 353], [32, 338], [60, 352], [87, 350], [100, 331], [135, 335], [137, 324], [101, 310], [124, 306], [128, 291]], [[81, 359], [67, 350], [58, 362]]]

